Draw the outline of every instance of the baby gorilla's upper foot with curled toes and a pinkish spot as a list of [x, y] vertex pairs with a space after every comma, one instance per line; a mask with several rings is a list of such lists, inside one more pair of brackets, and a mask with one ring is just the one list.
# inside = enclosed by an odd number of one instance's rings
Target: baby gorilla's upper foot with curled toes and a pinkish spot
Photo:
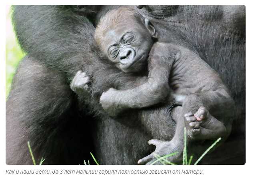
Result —
[[191, 139], [217, 139], [226, 135], [225, 125], [213, 117], [205, 107], [200, 107], [196, 114], [186, 113], [187, 133]]

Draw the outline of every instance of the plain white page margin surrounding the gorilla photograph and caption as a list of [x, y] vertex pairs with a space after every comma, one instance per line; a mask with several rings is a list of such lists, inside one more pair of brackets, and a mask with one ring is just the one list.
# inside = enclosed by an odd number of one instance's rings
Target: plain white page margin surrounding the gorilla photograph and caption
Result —
[[[144, 3], [143, 3], [144, 2]], [[100, 1], [92, 1], [92, 2], [85, 2], [82, 0], [62, 0], [62, 1], [55, 1], [55, 0], [44, 0], [44, 1], [32, 1], [32, 0], [25, 0], [22, 2], [9, 0], [8, 2], [3, 3], [1, 6], [1, 25], [5, 25], [5, 5], [6, 4], [106, 4], [106, 2]], [[108, 1], [109, 4], [120, 4], [118, 1]], [[124, 3], [122, 1], [122, 3]], [[256, 59], [254, 57], [255, 53], [255, 18], [256, 18], [256, 6], [252, 3], [252, 1], [241, 1], [241, 0], [215, 0], [215, 1], [203, 1], [203, 0], [196, 0], [196, 1], [188, 1], [188, 0], [172, 0], [172, 1], [134, 1], [131, 0], [129, 3], [124, 4], [245, 4], [246, 5], [246, 164], [245, 165], [198, 165], [198, 166], [10, 166], [5, 164], [5, 49], [1, 50], [1, 58], [2, 62], [0, 62], [0, 99], [1, 99], [1, 110], [0, 110], [0, 117], [2, 126], [0, 129], [0, 175], [1, 183], [42, 183], [45, 182], [61, 182], [61, 183], [72, 183], [80, 181], [82, 183], [160, 183], [160, 182], [167, 182], [167, 183], [214, 183], [220, 182], [228, 182], [228, 183], [243, 183], [243, 182], [254, 182], [254, 170], [255, 170], [255, 152], [254, 152], [254, 145], [255, 145], [255, 124], [256, 120], [254, 118], [254, 107], [255, 107], [255, 69], [256, 69]], [[0, 39], [1, 43], [5, 45], [5, 29], [1, 29]], [[141, 174], [141, 175], [6, 175], [4, 174], [6, 169], [96, 169], [100, 168], [103, 169], [198, 169], [204, 170], [203, 175], [154, 175], [154, 174]], [[250, 180], [251, 179], [251, 180]], [[6, 180], [4, 182], [4, 180]]]

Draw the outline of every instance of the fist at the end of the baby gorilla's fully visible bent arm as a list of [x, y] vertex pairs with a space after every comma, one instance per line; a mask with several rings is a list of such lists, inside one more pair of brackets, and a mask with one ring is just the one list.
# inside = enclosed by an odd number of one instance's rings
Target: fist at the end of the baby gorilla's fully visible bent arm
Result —
[[118, 101], [115, 98], [117, 93], [118, 90], [109, 88], [100, 96], [100, 104], [110, 116], [116, 116], [120, 113], [120, 108], [118, 108]]

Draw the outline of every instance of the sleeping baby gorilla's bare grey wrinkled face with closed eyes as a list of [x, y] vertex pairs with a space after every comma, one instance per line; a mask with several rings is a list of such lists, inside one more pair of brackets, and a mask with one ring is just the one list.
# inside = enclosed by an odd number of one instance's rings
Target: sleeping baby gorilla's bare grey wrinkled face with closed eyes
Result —
[[[150, 25], [151, 26], [151, 25]], [[146, 69], [152, 34], [143, 23], [121, 23], [104, 37], [105, 54], [120, 70], [131, 73]]]

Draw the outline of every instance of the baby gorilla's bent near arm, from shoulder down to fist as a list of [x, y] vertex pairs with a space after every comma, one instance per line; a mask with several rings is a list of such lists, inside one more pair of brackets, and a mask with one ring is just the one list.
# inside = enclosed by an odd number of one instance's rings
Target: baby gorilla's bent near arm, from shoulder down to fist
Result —
[[177, 57], [180, 57], [178, 50], [169, 51], [166, 44], [155, 43], [149, 57], [148, 82], [129, 90], [110, 88], [100, 97], [103, 109], [116, 116], [125, 109], [145, 108], [161, 102], [170, 94], [169, 75]]

